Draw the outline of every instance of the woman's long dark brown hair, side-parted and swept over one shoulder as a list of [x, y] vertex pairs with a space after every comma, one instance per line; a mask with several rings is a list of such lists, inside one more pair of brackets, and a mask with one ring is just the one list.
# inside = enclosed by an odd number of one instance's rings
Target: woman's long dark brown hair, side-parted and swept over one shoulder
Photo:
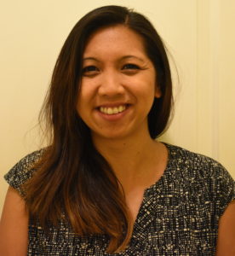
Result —
[[[37, 172], [25, 184], [26, 205], [43, 228], [66, 220], [81, 236], [106, 234], [107, 252], [123, 250], [129, 243], [133, 222], [117, 177], [95, 149], [89, 128], [78, 116], [77, 95], [82, 76], [83, 51], [89, 37], [104, 26], [123, 25], [144, 39], [146, 55], [152, 61], [161, 97], [148, 115], [149, 132], [158, 137], [169, 121], [172, 82], [162, 39], [152, 24], [132, 9], [104, 6], [84, 15], [63, 45], [41, 119], [46, 119], [51, 143], [37, 165]], [[108, 221], [107, 221], [108, 219]]]

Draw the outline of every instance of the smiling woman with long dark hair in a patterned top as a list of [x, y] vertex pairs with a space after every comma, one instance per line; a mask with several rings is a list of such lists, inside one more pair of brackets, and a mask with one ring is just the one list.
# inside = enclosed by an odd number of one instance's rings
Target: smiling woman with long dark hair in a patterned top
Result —
[[171, 105], [144, 16], [106, 6], [79, 20], [44, 105], [51, 143], [5, 176], [1, 255], [232, 255], [232, 177], [155, 140]]

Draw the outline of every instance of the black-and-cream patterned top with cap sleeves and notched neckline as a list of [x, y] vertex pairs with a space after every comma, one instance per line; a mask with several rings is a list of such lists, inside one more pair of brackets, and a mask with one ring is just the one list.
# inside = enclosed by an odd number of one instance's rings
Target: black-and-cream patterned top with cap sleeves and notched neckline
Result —
[[[215, 160], [166, 146], [168, 165], [158, 182], [145, 190], [125, 251], [106, 253], [107, 236], [75, 236], [63, 221], [57, 228], [51, 225], [48, 236], [30, 219], [28, 255], [214, 255], [219, 218], [235, 197], [234, 181]], [[5, 175], [21, 195], [20, 184], [32, 176], [31, 166], [42, 152], [28, 154]]]

